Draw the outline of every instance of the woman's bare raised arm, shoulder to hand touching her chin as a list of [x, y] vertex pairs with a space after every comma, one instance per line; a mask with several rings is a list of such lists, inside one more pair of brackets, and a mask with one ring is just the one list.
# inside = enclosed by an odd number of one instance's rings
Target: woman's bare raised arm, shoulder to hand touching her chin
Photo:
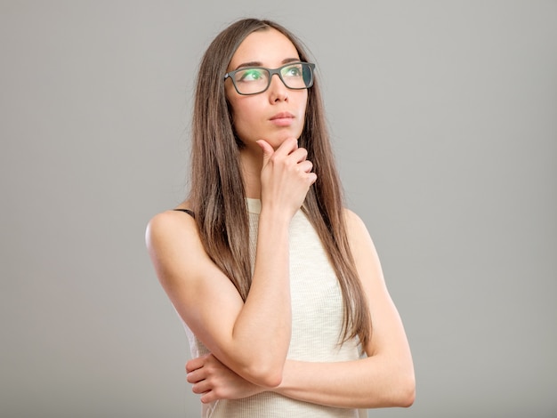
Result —
[[283, 145], [265, 149], [266, 194], [245, 303], [206, 254], [189, 216], [159, 213], [146, 235], [157, 277], [184, 322], [224, 365], [263, 387], [282, 380], [291, 326], [288, 226], [315, 181], [303, 150], [295, 141]]

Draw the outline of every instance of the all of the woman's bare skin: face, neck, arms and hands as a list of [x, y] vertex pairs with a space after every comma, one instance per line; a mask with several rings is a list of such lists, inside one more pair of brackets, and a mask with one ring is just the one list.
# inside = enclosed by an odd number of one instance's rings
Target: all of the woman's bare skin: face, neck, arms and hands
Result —
[[[298, 59], [294, 45], [270, 29], [247, 36], [228, 70], [246, 62], [278, 68], [293, 59]], [[254, 277], [246, 302], [206, 255], [190, 216], [159, 213], [147, 229], [149, 254], [161, 285], [212, 353], [187, 363], [192, 390], [202, 394], [202, 402], [273, 390], [327, 406], [412, 405], [415, 376], [407, 337], [371, 237], [349, 210], [344, 211], [348, 238], [374, 326], [365, 347], [367, 358], [339, 363], [287, 360], [288, 225], [316, 181], [305, 149], [296, 142], [303, 129], [307, 91], [287, 89], [278, 76], [272, 77], [267, 91], [253, 96], [239, 95], [230, 80], [225, 87], [234, 126], [246, 144], [240, 156], [246, 195], [262, 200]], [[291, 120], [270, 120], [282, 112], [292, 115]], [[180, 207], [189, 206], [184, 202]]]

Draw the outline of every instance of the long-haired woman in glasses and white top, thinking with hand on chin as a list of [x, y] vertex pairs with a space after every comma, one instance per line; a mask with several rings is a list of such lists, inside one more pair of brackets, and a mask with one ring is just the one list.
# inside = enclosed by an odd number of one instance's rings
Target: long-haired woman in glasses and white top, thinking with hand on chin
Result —
[[343, 207], [295, 36], [254, 19], [216, 36], [192, 131], [190, 197], [153, 217], [147, 245], [190, 338], [203, 416], [410, 406], [407, 337], [367, 229]]

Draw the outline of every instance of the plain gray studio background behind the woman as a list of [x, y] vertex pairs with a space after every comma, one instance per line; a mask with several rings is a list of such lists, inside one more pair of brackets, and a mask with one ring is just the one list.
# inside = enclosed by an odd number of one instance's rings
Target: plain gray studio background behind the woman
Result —
[[144, 245], [230, 21], [302, 37], [414, 355], [384, 417], [557, 416], [557, 2], [0, 2], [0, 415], [194, 417]]

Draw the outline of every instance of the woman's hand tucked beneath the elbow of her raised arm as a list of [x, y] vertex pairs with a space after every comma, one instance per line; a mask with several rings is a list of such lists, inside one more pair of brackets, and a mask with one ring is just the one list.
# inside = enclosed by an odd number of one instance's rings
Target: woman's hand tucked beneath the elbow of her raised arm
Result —
[[204, 404], [218, 399], [247, 398], [264, 390], [231, 371], [213, 354], [191, 359], [186, 363], [186, 372], [187, 381], [193, 384], [191, 390], [202, 394]]

